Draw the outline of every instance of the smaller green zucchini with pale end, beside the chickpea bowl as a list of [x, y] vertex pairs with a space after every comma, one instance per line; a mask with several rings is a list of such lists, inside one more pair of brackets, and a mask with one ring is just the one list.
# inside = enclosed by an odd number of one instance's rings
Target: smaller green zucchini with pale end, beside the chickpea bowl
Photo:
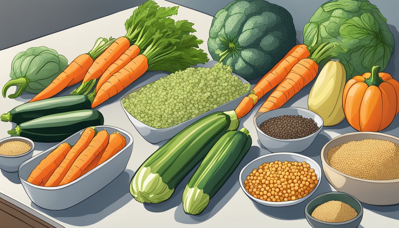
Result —
[[212, 147], [183, 192], [187, 214], [200, 214], [223, 186], [252, 145], [247, 129], [225, 133]]

